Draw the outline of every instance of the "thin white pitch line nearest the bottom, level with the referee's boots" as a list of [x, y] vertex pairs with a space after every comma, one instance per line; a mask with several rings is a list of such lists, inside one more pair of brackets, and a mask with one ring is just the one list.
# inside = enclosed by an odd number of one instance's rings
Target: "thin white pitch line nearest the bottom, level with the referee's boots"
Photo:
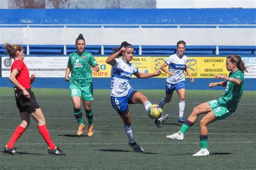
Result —
[[[208, 142], [208, 144], [254, 144], [256, 141], [225, 141]], [[173, 145], [173, 144], [200, 144], [200, 142], [178, 142], [178, 143], [139, 143], [140, 145]], [[15, 145], [45, 145], [45, 143], [16, 143]], [[127, 143], [56, 143], [56, 145], [127, 145]]]

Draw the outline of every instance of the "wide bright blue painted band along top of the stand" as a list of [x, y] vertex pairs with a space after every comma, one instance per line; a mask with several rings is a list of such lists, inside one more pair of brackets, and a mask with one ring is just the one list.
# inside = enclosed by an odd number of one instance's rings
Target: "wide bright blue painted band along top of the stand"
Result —
[[0, 9], [0, 24], [256, 24], [255, 9]]

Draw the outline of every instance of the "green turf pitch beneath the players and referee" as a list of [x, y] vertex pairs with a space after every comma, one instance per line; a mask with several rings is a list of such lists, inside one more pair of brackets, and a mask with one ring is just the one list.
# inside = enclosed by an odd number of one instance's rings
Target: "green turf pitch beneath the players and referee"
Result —
[[[140, 90], [152, 103], [158, 104], [164, 90]], [[132, 128], [136, 141], [145, 154], [134, 152], [127, 145], [123, 123], [110, 103], [109, 90], [95, 90], [92, 108], [95, 134], [77, 137], [78, 128], [72, 114], [68, 89], [33, 89], [41, 106], [53, 142], [65, 153], [57, 157], [47, 153], [47, 145], [31, 123], [16, 147], [19, 156], [0, 153], [0, 169], [255, 169], [256, 148], [256, 91], [244, 91], [237, 111], [223, 121], [208, 125], [207, 157], [192, 157], [200, 149], [199, 121], [185, 134], [183, 141], [167, 140], [166, 135], [177, 132], [178, 98], [166, 104], [170, 115], [163, 128], [157, 129], [141, 104], [130, 105]], [[201, 102], [216, 99], [219, 90], [187, 90], [185, 118]], [[0, 146], [2, 151], [20, 122], [14, 93], [11, 88], [0, 88]], [[83, 111], [84, 113], [84, 111]], [[85, 114], [84, 114], [85, 115]], [[199, 118], [200, 119], [200, 118]], [[87, 126], [87, 120], [84, 116]]]

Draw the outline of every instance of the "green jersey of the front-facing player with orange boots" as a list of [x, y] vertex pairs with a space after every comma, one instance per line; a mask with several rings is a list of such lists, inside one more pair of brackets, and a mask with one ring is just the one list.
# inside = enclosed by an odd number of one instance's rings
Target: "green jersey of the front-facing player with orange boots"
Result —
[[70, 84], [75, 86], [90, 86], [92, 82], [91, 66], [98, 65], [91, 53], [84, 52], [82, 55], [72, 53], [69, 55], [68, 67], [71, 69]]

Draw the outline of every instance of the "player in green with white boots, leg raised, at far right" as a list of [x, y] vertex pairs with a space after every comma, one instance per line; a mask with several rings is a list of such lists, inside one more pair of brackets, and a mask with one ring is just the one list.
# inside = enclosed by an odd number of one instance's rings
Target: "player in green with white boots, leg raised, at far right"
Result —
[[227, 76], [218, 74], [215, 75], [215, 79], [224, 79], [225, 81], [210, 83], [209, 87], [214, 86], [223, 86], [226, 87], [225, 93], [218, 100], [213, 100], [199, 104], [195, 107], [187, 118], [185, 123], [181, 126], [180, 130], [177, 133], [174, 133], [170, 136], [166, 136], [169, 139], [183, 140], [184, 133], [196, 123], [199, 115], [205, 114], [205, 116], [200, 121], [200, 144], [201, 150], [193, 156], [206, 156], [209, 153], [207, 150], [207, 138], [208, 138], [208, 129], [207, 125], [214, 122], [224, 119], [237, 109], [237, 105], [242, 96], [242, 91], [244, 91], [244, 72], [246, 67], [244, 62], [241, 60], [239, 55], [229, 55], [226, 59], [226, 68], [230, 72]]

